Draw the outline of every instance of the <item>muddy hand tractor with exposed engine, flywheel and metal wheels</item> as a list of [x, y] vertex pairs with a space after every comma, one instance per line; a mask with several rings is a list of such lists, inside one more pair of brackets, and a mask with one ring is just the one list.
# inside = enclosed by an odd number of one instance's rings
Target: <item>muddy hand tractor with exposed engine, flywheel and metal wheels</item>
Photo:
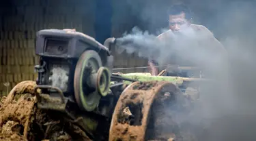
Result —
[[[61, 127], [63, 124], [75, 125], [81, 131], [79, 135], [86, 136], [86, 140], [182, 138], [181, 130], [169, 114], [188, 113], [188, 95], [177, 85], [186, 80], [152, 76], [141, 79], [130, 77], [134, 75], [113, 74], [111, 46], [115, 41], [110, 38], [102, 45], [94, 38], [72, 30], [39, 31], [35, 45], [35, 53], [40, 56], [39, 64], [35, 66], [38, 72], [36, 84], [33, 81], [19, 83], [3, 103], [10, 104], [15, 94], [32, 94], [36, 100], [31, 107], [46, 113], [49, 121], [59, 121]], [[35, 129], [32, 123], [29, 124], [32, 117], [29, 116], [23, 125], [27, 129], [23, 131], [23, 137], [27, 140], [32, 138], [28, 135], [29, 129]], [[37, 119], [34, 117], [33, 120]], [[46, 123], [37, 123], [40, 132], [44, 131], [40, 140], [57, 140], [57, 134], [46, 134], [50, 128]], [[69, 129], [63, 127], [60, 130], [72, 139], [78, 138], [77, 132], [74, 134]], [[37, 136], [39, 140], [39, 134]]]

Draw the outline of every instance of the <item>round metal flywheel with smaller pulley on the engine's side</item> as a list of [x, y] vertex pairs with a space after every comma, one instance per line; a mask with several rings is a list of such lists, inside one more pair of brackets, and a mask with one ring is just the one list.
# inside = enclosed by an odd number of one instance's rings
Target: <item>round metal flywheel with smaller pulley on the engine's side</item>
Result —
[[102, 67], [97, 52], [94, 50], [83, 52], [74, 73], [74, 96], [81, 110], [94, 110], [101, 96], [106, 96], [109, 85], [109, 71]]

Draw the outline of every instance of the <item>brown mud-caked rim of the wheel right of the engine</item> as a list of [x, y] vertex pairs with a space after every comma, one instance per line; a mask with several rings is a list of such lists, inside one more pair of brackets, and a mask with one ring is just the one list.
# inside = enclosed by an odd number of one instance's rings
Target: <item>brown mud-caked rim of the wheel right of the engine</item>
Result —
[[165, 83], [137, 82], [128, 86], [117, 102], [109, 140], [145, 140], [150, 106], [161, 85]]

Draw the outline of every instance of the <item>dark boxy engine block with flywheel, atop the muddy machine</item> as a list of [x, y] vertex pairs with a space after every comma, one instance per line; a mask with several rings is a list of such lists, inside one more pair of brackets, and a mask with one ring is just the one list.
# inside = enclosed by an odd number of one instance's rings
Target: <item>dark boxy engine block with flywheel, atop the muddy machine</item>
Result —
[[[84, 111], [99, 110], [111, 81], [113, 56], [107, 47], [74, 30], [47, 29], [37, 33], [35, 54], [40, 56], [35, 69], [42, 94], [75, 103]], [[56, 108], [49, 105], [39, 103], [41, 108]]]

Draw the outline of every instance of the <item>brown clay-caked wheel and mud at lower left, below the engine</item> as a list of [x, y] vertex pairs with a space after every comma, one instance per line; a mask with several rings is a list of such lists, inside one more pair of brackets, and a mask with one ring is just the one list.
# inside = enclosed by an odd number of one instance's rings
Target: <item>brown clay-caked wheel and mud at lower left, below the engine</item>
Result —
[[23, 81], [0, 103], [0, 140], [89, 140], [76, 125], [37, 108], [35, 82]]

